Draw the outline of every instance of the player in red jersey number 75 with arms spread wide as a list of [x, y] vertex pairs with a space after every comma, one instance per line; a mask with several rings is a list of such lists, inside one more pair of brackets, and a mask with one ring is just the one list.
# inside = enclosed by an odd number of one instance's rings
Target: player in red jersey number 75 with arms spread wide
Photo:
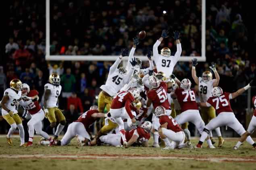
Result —
[[[200, 141], [196, 145], [196, 147], [202, 147], [204, 139], [207, 137], [210, 130], [216, 129], [216, 127], [220, 126], [229, 126], [234, 129], [239, 135], [243, 135], [246, 130], [243, 125], [235, 118], [235, 114], [231, 109], [231, 105], [229, 103], [230, 99], [236, 98], [240, 94], [242, 94], [245, 90], [252, 86], [252, 81], [245, 86], [244, 88], [240, 88], [234, 93], [224, 92], [220, 87], [214, 87], [212, 89], [212, 97], [208, 98], [206, 102], [200, 102], [198, 105], [201, 107], [214, 107], [218, 116], [214, 119], [210, 120], [210, 122], [205, 126], [204, 132], [201, 135]], [[246, 138], [246, 141], [256, 147], [256, 144], [252, 140], [250, 136]]]

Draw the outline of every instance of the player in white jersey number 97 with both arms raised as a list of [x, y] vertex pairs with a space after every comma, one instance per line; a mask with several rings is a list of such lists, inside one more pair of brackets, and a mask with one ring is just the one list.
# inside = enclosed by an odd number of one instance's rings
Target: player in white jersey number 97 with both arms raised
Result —
[[156, 41], [153, 46], [153, 56], [156, 63], [156, 69], [158, 72], [164, 72], [167, 77], [170, 77], [173, 73], [173, 68], [179, 58], [181, 57], [181, 43], [179, 41], [179, 31], [174, 31], [173, 38], [176, 40], [177, 51], [174, 56], [171, 56], [171, 50], [168, 47], [161, 49], [161, 54], [158, 54], [158, 46], [164, 38], [169, 37], [169, 31], [163, 30], [162, 36]]

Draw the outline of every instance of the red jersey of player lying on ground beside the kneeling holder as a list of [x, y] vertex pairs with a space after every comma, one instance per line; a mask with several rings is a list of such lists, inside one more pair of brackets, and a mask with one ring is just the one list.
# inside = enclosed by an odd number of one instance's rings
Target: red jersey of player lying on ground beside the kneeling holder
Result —
[[[131, 139], [134, 131], [137, 130], [139, 137], [135, 143], [144, 143], [150, 139], [150, 133], [146, 132], [142, 127], [137, 127], [136, 129], [132, 129], [131, 131], [125, 132], [125, 138], [127, 141]], [[123, 139], [121, 138], [121, 144], [123, 145]]]

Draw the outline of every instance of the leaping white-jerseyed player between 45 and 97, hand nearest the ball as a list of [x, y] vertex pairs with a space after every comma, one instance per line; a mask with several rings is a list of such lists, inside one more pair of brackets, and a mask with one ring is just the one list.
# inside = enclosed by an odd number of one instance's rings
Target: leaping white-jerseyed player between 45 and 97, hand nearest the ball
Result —
[[[136, 38], [136, 37], [133, 38], [133, 47], [131, 48], [131, 51], [130, 51], [130, 53], [129, 53], [129, 58], [128, 58], [128, 62], [127, 62], [127, 70], [129, 70], [129, 69], [132, 67], [131, 61], [132, 61], [132, 59], [134, 58], [133, 55], [134, 55], [136, 46], [137, 46], [138, 44], [139, 44], [139, 39]], [[134, 67], [134, 72], [133, 72], [133, 74], [136, 73], [136, 72], [140, 72], [140, 73], [142, 73], [142, 74], [148, 74], [148, 71], [149, 71], [149, 70], [153, 70], [154, 63], [153, 63], [153, 61], [152, 61], [152, 59], [151, 59], [151, 51], [150, 51], [150, 50], [147, 51], [147, 57], [148, 57], [150, 66], [149, 66], [149, 68], [145, 68], [145, 69], [142, 68], [142, 60], [139, 59], [139, 58], [135, 58], [136, 65], [135, 65], [135, 67]]]

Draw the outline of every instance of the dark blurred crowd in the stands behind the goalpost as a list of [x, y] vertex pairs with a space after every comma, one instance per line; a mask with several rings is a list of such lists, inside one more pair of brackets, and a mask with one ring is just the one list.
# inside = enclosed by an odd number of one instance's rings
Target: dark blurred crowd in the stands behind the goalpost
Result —
[[[45, 60], [46, 4], [39, 0], [9, 0], [5, 31], [0, 40], [0, 97], [10, 80], [19, 78], [31, 89], [44, 93], [49, 74], [61, 77], [60, 109], [68, 123], [92, 104], [97, 104], [99, 87], [104, 84], [112, 62]], [[216, 62], [224, 91], [244, 87], [256, 75], [253, 47], [256, 47], [255, 21], [241, 0], [206, 1], [206, 62], [198, 64], [200, 76]], [[145, 55], [163, 29], [181, 32], [183, 56], [201, 55], [201, 0], [50, 0], [51, 55], [120, 55], [131, 48], [141, 30], [147, 36], [137, 45], [135, 55]], [[165, 12], [163, 12], [165, 11]], [[255, 15], [254, 15], [255, 16]], [[248, 27], [248, 25], [250, 27]], [[158, 49], [176, 51], [175, 41], [164, 39]], [[106, 59], [107, 60], [107, 59]], [[144, 66], [148, 66], [144, 62]], [[174, 74], [191, 78], [191, 62], [178, 62]], [[193, 86], [193, 85], [192, 85]], [[254, 90], [255, 91], [255, 90]], [[236, 117], [245, 124], [247, 94], [231, 104]], [[0, 122], [5, 133], [5, 121]]]

